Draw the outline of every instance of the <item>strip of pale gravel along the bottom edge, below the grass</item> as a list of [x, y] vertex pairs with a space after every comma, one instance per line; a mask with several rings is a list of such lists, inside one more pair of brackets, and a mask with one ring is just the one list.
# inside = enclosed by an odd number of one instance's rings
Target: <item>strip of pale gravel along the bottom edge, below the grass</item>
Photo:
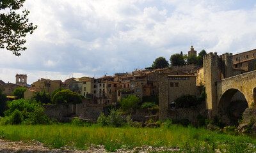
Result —
[[[170, 148], [164, 148], [164, 147], [136, 147], [134, 149], [118, 149], [117, 152], [152, 152], [156, 151], [159, 152], [161, 150], [178, 150], [178, 149], [170, 149]], [[43, 143], [37, 142], [35, 140], [32, 140], [31, 142], [24, 143], [24, 142], [9, 142], [6, 140], [0, 139], [0, 152], [74, 152], [74, 153], [82, 153], [82, 152], [107, 152], [106, 149], [104, 149], [103, 145], [98, 145], [95, 147], [88, 147], [87, 150], [74, 150], [74, 149], [68, 149], [67, 147], [64, 147], [63, 149], [49, 149], [48, 147], [44, 147]]]

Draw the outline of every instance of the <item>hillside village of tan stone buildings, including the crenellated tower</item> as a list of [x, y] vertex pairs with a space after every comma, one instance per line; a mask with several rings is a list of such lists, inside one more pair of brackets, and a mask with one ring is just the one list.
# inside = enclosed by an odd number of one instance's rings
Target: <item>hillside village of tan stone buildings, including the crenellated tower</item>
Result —
[[[188, 51], [188, 55], [196, 55], [197, 52], [193, 46]], [[216, 57], [216, 61], [213, 59]], [[214, 59], [215, 60], [215, 59]], [[216, 62], [216, 71], [211, 67]], [[228, 77], [248, 73], [255, 69], [256, 50], [250, 50], [241, 54], [223, 54], [209, 53], [204, 56], [204, 66], [196, 64], [187, 64], [184, 66], [171, 66], [170, 68], [161, 69], [135, 69], [132, 72], [116, 73], [114, 76], [104, 75], [100, 78], [68, 78], [64, 82], [61, 80], [50, 80], [40, 78], [31, 85], [27, 85], [28, 76], [17, 74], [15, 84], [4, 83], [0, 80], [0, 87], [7, 96], [11, 96], [15, 88], [26, 87], [24, 99], [31, 99], [36, 92], [49, 92], [51, 94], [56, 89], [62, 87], [83, 96], [82, 103], [70, 106], [45, 105], [45, 112], [49, 117], [56, 119], [65, 119], [65, 117], [84, 117], [86, 119], [97, 119], [100, 113], [104, 113], [104, 108], [109, 105], [117, 105], [122, 98], [134, 95], [141, 101], [147, 101], [146, 98], [159, 98], [159, 112], [152, 113], [148, 111], [134, 112], [134, 120], [145, 120], [147, 117], [164, 120], [169, 119], [188, 119], [190, 122], [196, 122], [198, 115], [211, 118], [214, 115], [220, 115], [221, 121], [230, 124], [227, 115], [220, 112], [218, 106], [214, 106], [214, 86], [216, 82], [212, 80], [223, 80]], [[212, 64], [213, 63], [213, 64]], [[209, 71], [209, 72], [208, 72]], [[209, 74], [210, 73], [210, 74]], [[177, 98], [186, 95], [193, 95], [200, 98], [202, 92], [207, 94], [202, 103], [182, 104], [177, 103]], [[256, 90], [253, 89], [253, 93]], [[230, 102], [233, 113], [232, 117], [241, 118], [241, 113], [248, 108], [247, 101], [245, 105], [235, 103], [236, 101], [246, 101], [244, 93], [236, 92], [231, 94]], [[216, 92], [218, 93], [218, 92]], [[255, 94], [255, 93], [254, 93]], [[215, 95], [216, 97], [216, 95]], [[235, 101], [235, 102], [234, 102]], [[233, 103], [234, 102], [234, 103]], [[218, 102], [217, 102], [218, 103]], [[235, 107], [242, 108], [236, 110]], [[224, 114], [224, 115], [223, 115]]]

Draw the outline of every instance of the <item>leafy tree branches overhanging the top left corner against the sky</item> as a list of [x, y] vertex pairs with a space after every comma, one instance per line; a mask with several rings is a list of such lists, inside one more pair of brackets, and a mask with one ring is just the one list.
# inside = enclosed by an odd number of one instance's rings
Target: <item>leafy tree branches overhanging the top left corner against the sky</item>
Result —
[[0, 48], [6, 48], [17, 56], [20, 55], [20, 51], [27, 49], [23, 47], [26, 43], [24, 37], [28, 33], [32, 34], [37, 27], [28, 21], [29, 10], [25, 9], [22, 13], [17, 13], [25, 1], [0, 0], [0, 10], [8, 11], [8, 13], [0, 13]]

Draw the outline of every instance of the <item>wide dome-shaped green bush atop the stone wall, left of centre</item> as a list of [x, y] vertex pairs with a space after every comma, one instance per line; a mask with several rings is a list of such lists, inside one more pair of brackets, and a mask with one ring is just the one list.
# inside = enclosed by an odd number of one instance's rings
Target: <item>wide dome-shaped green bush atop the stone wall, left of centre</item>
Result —
[[63, 103], [81, 103], [82, 98], [76, 92], [72, 92], [69, 89], [56, 92], [52, 98], [52, 103], [63, 104]]

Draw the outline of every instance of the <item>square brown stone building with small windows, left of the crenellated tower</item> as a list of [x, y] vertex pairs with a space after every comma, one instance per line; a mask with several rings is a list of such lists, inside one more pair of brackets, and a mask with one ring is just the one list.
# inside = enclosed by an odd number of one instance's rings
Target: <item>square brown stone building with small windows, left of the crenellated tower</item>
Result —
[[175, 99], [185, 94], [196, 97], [200, 89], [196, 86], [196, 76], [180, 71], [159, 74], [159, 119], [165, 120], [170, 114], [172, 103]]

